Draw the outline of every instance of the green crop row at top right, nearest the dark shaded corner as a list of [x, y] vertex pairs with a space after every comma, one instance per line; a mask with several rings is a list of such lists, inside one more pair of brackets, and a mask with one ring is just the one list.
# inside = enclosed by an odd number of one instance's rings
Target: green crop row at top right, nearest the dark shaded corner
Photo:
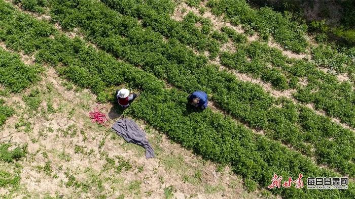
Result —
[[270, 35], [285, 49], [296, 53], [304, 52], [308, 43], [305, 38], [307, 26], [291, 21], [285, 15], [270, 8], [251, 8], [245, 0], [209, 0], [207, 6], [217, 16], [224, 14], [235, 25], [258, 31], [267, 40]]

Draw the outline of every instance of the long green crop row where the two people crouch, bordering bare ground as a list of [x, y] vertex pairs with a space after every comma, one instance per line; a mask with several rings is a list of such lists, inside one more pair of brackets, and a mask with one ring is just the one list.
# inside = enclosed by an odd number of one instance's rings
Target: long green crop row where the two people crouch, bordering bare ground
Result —
[[[0, 13], [0, 20], [7, 20], [9, 24], [13, 19], [17, 19], [16, 16], [21, 16], [23, 25], [27, 25], [28, 32], [40, 27], [46, 28], [46, 26], [42, 26], [45, 22], [15, 12], [3, 1], [0, 1]], [[35, 55], [37, 61], [57, 64], [56, 69], [62, 75], [74, 78], [72, 80], [81, 86], [91, 88], [91, 85], [94, 85], [89, 80], [81, 82], [80, 78], [76, 78], [76, 75], [80, 76], [85, 73], [77, 73], [82, 70], [88, 71], [90, 75], [101, 75], [104, 86], [124, 83], [141, 89], [141, 94], [125, 114], [146, 120], [174, 141], [194, 150], [206, 159], [231, 164], [233, 171], [243, 176], [248, 182], [258, 182], [260, 187], [266, 187], [271, 183], [274, 172], [294, 178], [299, 173], [302, 173], [305, 178], [337, 176], [327, 169], [318, 168], [309, 158], [289, 150], [279, 142], [253, 134], [243, 125], [236, 124], [230, 117], [214, 113], [209, 109], [201, 113], [192, 112], [186, 108], [187, 92], [174, 88], [163, 89], [162, 82], [150, 73], [119, 62], [110, 55], [87, 46], [78, 38], [72, 40], [57, 32], [53, 32], [53, 35], [45, 38], [41, 37], [40, 32], [37, 32], [31, 38], [21, 41], [31, 42], [31, 40], [43, 41], [36, 49], [38, 52]], [[47, 53], [47, 51], [49, 52]], [[112, 65], [117, 67], [112, 67]], [[74, 69], [75, 67], [76, 69]], [[127, 67], [126, 72], [124, 72], [125, 67]], [[115, 70], [120, 72], [116, 73]], [[116, 74], [112, 76], [109, 72]], [[114, 80], [113, 77], [121, 80]], [[140, 79], [137, 79], [139, 77]], [[97, 76], [97, 78], [99, 77]], [[110, 79], [111, 81], [109, 81]], [[254, 189], [255, 187], [248, 188]], [[350, 182], [347, 190], [311, 190], [292, 187], [273, 189], [272, 192], [284, 197], [294, 197], [295, 195], [299, 197], [354, 197], [353, 190], [353, 183]]]

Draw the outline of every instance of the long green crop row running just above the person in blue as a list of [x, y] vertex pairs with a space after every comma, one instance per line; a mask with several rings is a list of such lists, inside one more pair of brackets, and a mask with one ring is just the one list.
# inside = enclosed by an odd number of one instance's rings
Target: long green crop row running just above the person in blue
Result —
[[[80, 27], [92, 42], [105, 51], [154, 73], [158, 78], [166, 79], [186, 92], [206, 90], [213, 94], [213, 100], [221, 108], [252, 127], [270, 132], [267, 136], [275, 132], [282, 134], [282, 137], [277, 137], [279, 140], [307, 155], [315, 155], [318, 163], [339, 168], [341, 172], [351, 176], [355, 173], [355, 165], [349, 162], [355, 156], [355, 152], [349, 150], [354, 148], [354, 142], [338, 138], [329, 140], [331, 135], [339, 136], [333, 131], [340, 129], [344, 134], [354, 136], [351, 131], [339, 127], [317, 134], [318, 140], [330, 141], [329, 153], [336, 157], [326, 158], [322, 154], [323, 142], [312, 139], [308, 143], [305, 135], [310, 132], [300, 123], [303, 120], [299, 119], [298, 106], [274, 102], [275, 99], [260, 86], [240, 82], [232, 74], [219, 71], [218, 66], [206, 65], [204, 56], [196, 56], [176, 40], [164, 42], [161, 35], [144, 29], [136, 19], [118, 15], [100, 3], [61, 1], [52, 2], [51, 7], [54, 14], [52, 19], [58, 20], [64, 28]], [[282, 117], [283, 115], [286, 117]], [[310, 122], [314, 120], [311, 117], [307, 119]], [[316, 124], [319, 128], [337, 126], [326, 117], [321, 117], [321, 121]], [[314, 148], [310, 148], [310, 144]]]

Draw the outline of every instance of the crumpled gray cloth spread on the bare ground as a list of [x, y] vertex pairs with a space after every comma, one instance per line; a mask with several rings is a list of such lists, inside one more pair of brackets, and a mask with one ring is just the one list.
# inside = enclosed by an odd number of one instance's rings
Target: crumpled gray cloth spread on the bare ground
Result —
[[146, 148], [146, 158], [154, 157], [154, 150], [148, 139], [146, 133], [137, 126], [137, 124], [130, 119], [122, 119], [115, 122], [112, 128], [121, 135], [127, 142], [138, 144]]

